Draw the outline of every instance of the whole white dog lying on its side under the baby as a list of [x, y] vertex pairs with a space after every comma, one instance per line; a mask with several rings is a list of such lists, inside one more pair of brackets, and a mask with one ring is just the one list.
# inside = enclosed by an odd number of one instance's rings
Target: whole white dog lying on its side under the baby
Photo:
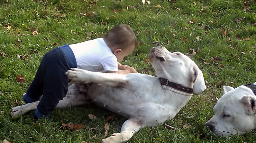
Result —
[[[94, 83], [89, 84], [89, 98], [99, 106], [129, 118], [120, 133], [112, 134], [102, 143], [126, 142], [144, 126], [163, 124], [175, 117], [193, 93], [199, 94], [206, 89], [201, 70], [184, 54], [171, 53], [157, 42], [151, 49], [149, 60], [157, 77], [138, 73], [106, 74], [77, 68], [66, 73], [73, 82]], [[85, 103], [86, 98], [79, 95], [77, 87], [76, 84], [70, 86], [66, 95], [69, 98], [60, 101], [57, 108], [69, 103]], [[77, 95], [79, 98], [74, 98]], [[13, 108], [11, 114], [17, 116], [35, 110], [37, 103]]]

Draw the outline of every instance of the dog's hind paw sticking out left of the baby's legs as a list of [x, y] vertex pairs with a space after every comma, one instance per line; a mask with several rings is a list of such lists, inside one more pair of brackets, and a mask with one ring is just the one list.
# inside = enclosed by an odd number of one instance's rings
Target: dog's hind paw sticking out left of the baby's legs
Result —
[[32, 103], [28, 103], [28, 104], [25, 104], [22, 106], [12, 108], [10, 110], [9, 115], [11, 117], [17, 117], [18, 115], [23, 115], [23, 114], [27, 113], [28, 111], [36, 110], [38, 103], [39, 103], [39, 101], [35, 101]]

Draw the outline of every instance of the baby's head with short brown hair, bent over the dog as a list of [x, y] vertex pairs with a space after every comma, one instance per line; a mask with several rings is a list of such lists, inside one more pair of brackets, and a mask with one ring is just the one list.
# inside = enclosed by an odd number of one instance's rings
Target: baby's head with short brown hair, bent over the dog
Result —
[[129, 25], [117, 25], [104, 36], [104, 41], [121, 62], [125, 56], [131, 54], [138, 44], [136, 36]]

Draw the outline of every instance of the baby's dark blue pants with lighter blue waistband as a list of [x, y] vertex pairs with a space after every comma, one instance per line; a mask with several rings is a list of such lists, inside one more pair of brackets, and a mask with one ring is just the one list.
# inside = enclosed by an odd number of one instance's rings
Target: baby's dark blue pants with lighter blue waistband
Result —
[[47, 52], [38, 67], [35, 78], [24, 95], [24, 101], [31, 103], [39, 100], [34, 118], [49, 115], [68, 91], [67, 70], [75, 68], [76, 59], [68, 44]]

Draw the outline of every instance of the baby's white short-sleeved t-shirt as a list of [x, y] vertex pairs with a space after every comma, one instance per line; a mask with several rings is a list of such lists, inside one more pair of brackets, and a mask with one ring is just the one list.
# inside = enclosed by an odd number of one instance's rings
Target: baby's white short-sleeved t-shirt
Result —
[[118, 70], [117, 57], [112, 53], [103, 38], [69, 46], [75, 55], [77, 68], [92, 72]]

